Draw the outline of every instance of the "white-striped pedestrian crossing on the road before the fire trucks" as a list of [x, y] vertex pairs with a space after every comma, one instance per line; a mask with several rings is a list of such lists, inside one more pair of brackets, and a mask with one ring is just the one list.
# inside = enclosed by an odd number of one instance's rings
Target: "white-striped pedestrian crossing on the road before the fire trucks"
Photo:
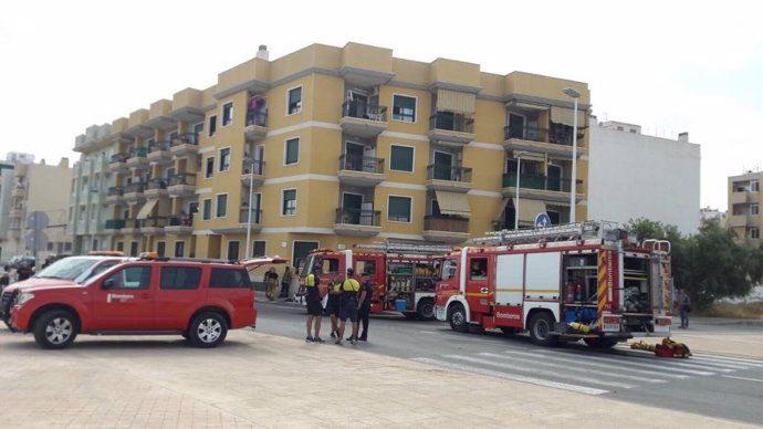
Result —
[[586, 395], [693, 377], [721, 376], [763, 383], [760, 377], [733, 375], [748, 369], [763, 369], [763, 360], [707, 354], [694, 354], [689, 359], [659, 358], [647, 352], [631, 350], [625, 344], [614, 347], [613, 352], [509, 347], [495, 353], [445, 354], [412, 360]]

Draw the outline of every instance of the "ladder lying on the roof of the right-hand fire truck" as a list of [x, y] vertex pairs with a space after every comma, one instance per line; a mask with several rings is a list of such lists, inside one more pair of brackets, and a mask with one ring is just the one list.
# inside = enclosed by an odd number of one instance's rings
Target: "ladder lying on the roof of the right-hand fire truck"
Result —
[[485, 237], [471, 239], [474, 244], [505, 245], [545, 241], [566, 241], [596, 239], [603, 234], [602, 223], [587, 220], [585, 222], [563, 223], [545, 228], [523, 230], [501, 230], [485, 232]]

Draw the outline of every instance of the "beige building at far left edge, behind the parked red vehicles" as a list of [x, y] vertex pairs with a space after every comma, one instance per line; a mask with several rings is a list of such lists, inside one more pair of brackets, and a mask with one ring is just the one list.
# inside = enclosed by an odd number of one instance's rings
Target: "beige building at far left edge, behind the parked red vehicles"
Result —
[[69, 159], [58, 165], [34, 164], [29, 154], [10, 154], [0, 168], [0, 260], [71, 251], [66, 210], [72, 169]]

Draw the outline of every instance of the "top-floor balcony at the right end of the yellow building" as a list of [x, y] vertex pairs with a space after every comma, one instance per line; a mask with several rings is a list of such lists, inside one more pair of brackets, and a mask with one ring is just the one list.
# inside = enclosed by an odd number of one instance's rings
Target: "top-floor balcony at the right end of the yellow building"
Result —
[[[572, 159], [572, 130], [567, 130], [566, 128], [568, 127], [555, 127], [553, 129], [548, 129], [509, 125], [503, 128], [503, 147], [510, 150], [527, 150], [540, 154], [563, 156]], [[585, 150], [585, 147], [581, 145], [583, 137], [585, 137], [585, 133], [578, 128], [578, 157]]]

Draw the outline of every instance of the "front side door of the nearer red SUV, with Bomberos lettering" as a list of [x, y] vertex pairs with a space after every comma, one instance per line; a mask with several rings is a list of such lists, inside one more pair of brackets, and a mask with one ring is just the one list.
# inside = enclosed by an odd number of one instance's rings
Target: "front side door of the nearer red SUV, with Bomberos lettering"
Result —
[[93, 290], [93, 328], [139, 331], [154, 323], [151, 266], [129, 265], [102, 279]]

